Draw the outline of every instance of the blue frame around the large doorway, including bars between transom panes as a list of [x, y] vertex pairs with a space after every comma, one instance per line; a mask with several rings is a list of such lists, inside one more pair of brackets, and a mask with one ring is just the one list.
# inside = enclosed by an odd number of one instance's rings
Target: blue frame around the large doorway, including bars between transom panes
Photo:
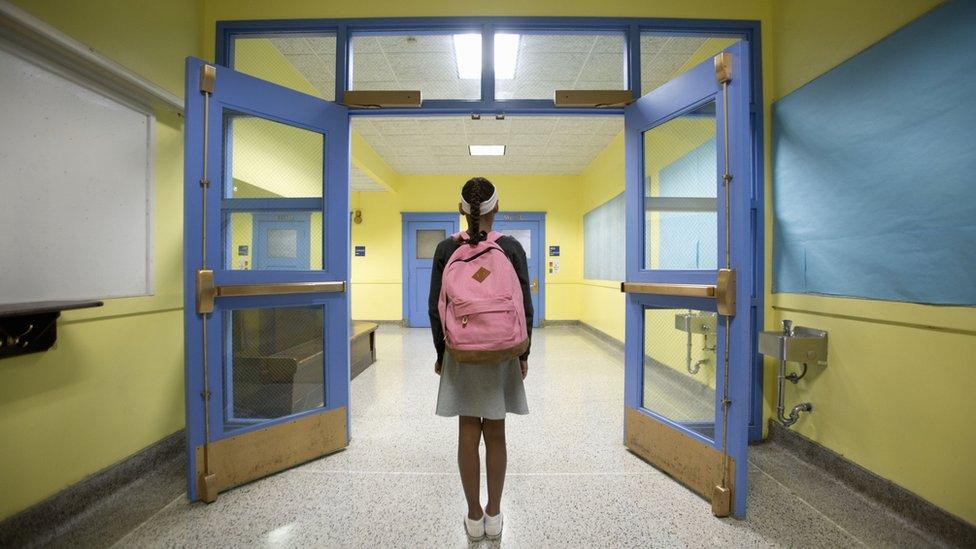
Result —
[[[764, 134], [762, 85], [762, 29], [759, 21], [720, 19], [670, 19], [653, 17], [391, 17], [346, 19], [280, 19], [252, 21], [218, 21], [216, 24], [216, 61], [233, 66], [234, 38], [273, 33], [329, 34], [336, 37], [336, 101], [350, 87], [352, 48], [356, 34], [403, 33], [433, 34], [445, 32], [480, 32], [482, 35], [481, 98], [475, 101], [425, 101], [417, 109], [352, 109], [350, 116], [422, 116], [422, 115], [624, 115], [622, 108], [558, 108], [548, 100], [496, 100], [493, 44], [495, 31], [533, 32], [617, 32], [625, 35], [627, 88], [635, 97], [641, 94], [640, 36], [661, 32], [680, 36], [729, 36], [740, 38], [748, 53], [749, 133], [752, 140], [752, 208], [755, 239], [752, 242], [754, 266], [753, 319], [756, 328], [763, 326], [764, 307]], [[741, 177], [739, 182], [742, 182]], [[754, 360], [749, 439], [762, 438], [763, 371], [756, 336], [752, 339]]]

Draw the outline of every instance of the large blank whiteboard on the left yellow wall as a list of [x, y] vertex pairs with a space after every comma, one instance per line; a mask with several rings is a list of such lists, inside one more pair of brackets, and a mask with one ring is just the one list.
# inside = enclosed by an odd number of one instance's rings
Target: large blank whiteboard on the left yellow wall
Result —
[[0, 43], [0, 304], [152, 293], [154, 117]]

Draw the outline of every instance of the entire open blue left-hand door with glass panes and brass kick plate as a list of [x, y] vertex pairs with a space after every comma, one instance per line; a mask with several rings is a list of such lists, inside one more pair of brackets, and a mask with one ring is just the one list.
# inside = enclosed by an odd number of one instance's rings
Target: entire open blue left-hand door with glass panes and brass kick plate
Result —
[[209, 502], [348, 443], [349, 118], [189, 58], [184, 135], [187, 496]]

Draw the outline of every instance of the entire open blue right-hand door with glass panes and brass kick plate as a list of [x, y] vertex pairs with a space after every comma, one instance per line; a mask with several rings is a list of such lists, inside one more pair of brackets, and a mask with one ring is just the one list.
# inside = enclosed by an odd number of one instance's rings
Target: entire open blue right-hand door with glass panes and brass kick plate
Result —
[[627, 447], [737, 517], [757, 318], [747, 46], [626, 108], [621, 288]]

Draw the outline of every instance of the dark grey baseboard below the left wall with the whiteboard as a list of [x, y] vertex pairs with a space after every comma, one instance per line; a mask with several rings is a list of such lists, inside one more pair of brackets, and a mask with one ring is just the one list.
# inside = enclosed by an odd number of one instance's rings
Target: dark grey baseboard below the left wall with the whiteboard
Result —
[[[0, 521], [0, 547], [39, 546], [58, 538], [66, 545], [110, 545], [118, 539], [113, 539], [114, 534], [121, 537], [138, 522], [105, 524], [100, 514], [123, 515], [140, 522], [148, 519], [185, 490], [185, 483], [180, 482], [185, 457], [186, 434], [181, 429]], [[140, 493], [145, 490], [151, 497], [136, 501], [125, 497], [128, 487], [147, 481], [153, 484], [140, 488]], [[112, 512], [109, 508], [113, 505], [124, 506], [126, 512]]]

